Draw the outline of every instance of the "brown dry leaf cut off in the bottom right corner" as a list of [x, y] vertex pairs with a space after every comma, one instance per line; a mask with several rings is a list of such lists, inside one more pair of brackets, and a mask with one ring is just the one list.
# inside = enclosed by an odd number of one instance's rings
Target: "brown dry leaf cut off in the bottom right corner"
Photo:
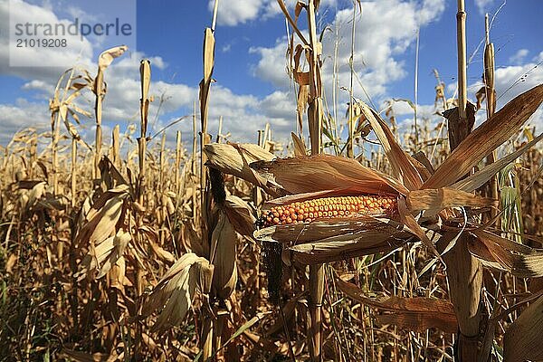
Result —
[[539, 297], [506, 330], [503, 357], [508, 362], [543, 360], [543, 297]]

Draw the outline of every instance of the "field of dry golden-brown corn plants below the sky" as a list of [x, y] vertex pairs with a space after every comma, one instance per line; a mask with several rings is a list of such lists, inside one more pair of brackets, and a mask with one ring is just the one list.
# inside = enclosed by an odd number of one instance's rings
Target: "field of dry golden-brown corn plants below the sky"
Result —
[[543, 135], [524, 127], [543, 85], [496, 109], [487, 40], [472, 104], [459, 1], [459, 92], [436, 87], [441, 122], [401, 133], [351, 87], [342, 138], [322, 93], [319, 2], [279, 5], [298, 96], [288, 144], [272, 126], [254, 143], [208, 129], [213, 26], [191, 142], [175, 125], [149, 135], [148, 60], [138, 127], [103, 141], [119, 46], [97, 70], [60, 74], [51, 130], [0, 149], [0, 359], [543, 360]]

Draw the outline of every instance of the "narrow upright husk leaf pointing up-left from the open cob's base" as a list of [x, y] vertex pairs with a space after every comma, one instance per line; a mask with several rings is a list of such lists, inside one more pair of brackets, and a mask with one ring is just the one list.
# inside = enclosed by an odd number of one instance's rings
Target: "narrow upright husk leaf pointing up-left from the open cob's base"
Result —
[[403, 181], [403, 184], [409, 190], [419, 189], [423, 185], [423, 179], [416, 167], [411, 163], [410, 157], [405, 154], [404, 150], [395, 141], [395, 137], [386, 126], [385, 121], [367, 107], [366, 103], [357, 101], [357, 104], [385, 149], [386, 158], [390, 161], [395, 176]]

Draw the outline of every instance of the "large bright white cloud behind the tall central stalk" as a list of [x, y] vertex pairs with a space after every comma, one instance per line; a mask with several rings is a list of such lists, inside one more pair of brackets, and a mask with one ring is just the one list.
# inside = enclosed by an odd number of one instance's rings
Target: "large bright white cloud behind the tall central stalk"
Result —
[[[444, 0], [425, 0], [423, 2], [403, 2], [386, 0], [362, 3], [362, 14], [357, 14], [354, 67], [357, 77], [354, 80], [354, 93], [365, 100], [367, 92], [378, 102], [388, 95], [393, 82], [405, 78], [407, 71], [400, 55], [414, 45], [416, 31], [443, 14]], [[398, 21], [401, 19], [401, 21]], [[338, 10], [331, 32], [323, 39], [322, 79], [325, 93], [330, 102], [333, 90], [334, 54], [338, 47], [337, 81], [338, 87], [349, 88], [350, 67], [348, 65], [351, 48], [352, 7]], [[290, 81], [286, 74], [285, 52], [287, 39], [282, 37], [272, 47], [254, 47], [250, 52], [258, 53], [260, 60], [254, 65], [253, 74], [262, 80], [288, 90]], [[348, 101], [348, 93], [338, 90], [339, 103]], [[339, 110], [340, 113], [342, 110]]]

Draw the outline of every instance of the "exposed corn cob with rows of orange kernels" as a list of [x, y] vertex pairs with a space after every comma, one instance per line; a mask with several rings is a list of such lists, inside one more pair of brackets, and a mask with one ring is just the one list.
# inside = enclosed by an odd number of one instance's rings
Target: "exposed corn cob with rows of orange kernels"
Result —
[[396, 208], [395, 197], [360, 195], [322, 197], [296, 202], [289, 205], [273, 206], [262, 214], [258, 226], [310, 223], [313, 220], [349, 217], [357, 214], [392, 214]]

